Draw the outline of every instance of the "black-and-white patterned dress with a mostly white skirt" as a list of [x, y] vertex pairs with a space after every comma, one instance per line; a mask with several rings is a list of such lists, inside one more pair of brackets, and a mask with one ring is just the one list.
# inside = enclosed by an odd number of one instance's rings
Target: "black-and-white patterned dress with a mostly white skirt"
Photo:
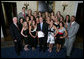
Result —
[[48, 28], [48, 40], [47, 43], [54, 44], [55, 43], [55, 38], [52, 36], [52, 34], [55, 33], [55, 29], [53, 27]]

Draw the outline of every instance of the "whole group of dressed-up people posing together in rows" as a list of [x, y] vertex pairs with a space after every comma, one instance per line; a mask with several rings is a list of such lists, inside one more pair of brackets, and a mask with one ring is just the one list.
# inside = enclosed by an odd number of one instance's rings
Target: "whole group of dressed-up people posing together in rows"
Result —
[[[16, 53], [20, 54], [24, 42], [25, 51], [29, 50], [29, 45], [32, 50], [35, 50], [39, 44], [39, 51], [43, 52], [46, 51], [47, 46], [49, 46], [49, 52], [52, 52], [54, 46], [56, 46], [56, 52], [65, 46], [66, 55], [70, 56], [79, 29], [79, 24], [75, 20], [75, 16], [69, 15], [66, 15], [64, 19], [60, 11], [56, 14], [34, 11], [32, 14], [32, 10], [27, 9], [25, 13], [25, 7], [23, 7], [18, 17], [13, 17], [13, 24], [10, 25]], [[39, 37], [39, 32], [42, 32], [44, 36]]]

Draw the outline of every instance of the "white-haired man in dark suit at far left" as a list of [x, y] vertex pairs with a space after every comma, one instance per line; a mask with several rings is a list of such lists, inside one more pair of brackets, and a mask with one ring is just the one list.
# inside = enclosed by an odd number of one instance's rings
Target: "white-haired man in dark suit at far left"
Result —
[[20, 29], [17, 25], [17, 17], [13, 18], [13, 24], [10, 25], [10, 34], [14, 41], [15, 51], [17, 55], [20, 55], [20, 51], [22, 50], [22, 40], [21, 40]]

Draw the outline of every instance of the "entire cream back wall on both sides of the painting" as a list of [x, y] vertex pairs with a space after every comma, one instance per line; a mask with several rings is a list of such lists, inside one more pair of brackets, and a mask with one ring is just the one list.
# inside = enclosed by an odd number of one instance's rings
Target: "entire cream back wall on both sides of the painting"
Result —
[[[25, 2], [29, 2], [29, 9], [32, 11], [37, 10], [37, 1], [3, 1], [3, 2], [16, 2], [17, 4], [17, 14], [22, 11], [22, 7]], [[83, 3], [83, 1], [68, 1], [68, 6], [65, 8], [63, 12], [63, 6], [61, 1], [55, 1], [55, 14], [57, 11], [60, 11], [61, 14], [65, 17], [67, 14], [70, 16], [76, 15], [78, 3]]]

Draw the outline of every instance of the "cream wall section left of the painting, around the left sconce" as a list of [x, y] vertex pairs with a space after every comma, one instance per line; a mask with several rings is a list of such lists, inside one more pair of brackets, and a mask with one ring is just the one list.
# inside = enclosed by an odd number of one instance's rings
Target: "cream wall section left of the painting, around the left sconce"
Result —
[[29, 2], [28, 9], [31, 9], [32, 12], [37, 10], [37, 1], [17, 1], [17, 14], [22, 11], [22, 7], [26, 2]]

